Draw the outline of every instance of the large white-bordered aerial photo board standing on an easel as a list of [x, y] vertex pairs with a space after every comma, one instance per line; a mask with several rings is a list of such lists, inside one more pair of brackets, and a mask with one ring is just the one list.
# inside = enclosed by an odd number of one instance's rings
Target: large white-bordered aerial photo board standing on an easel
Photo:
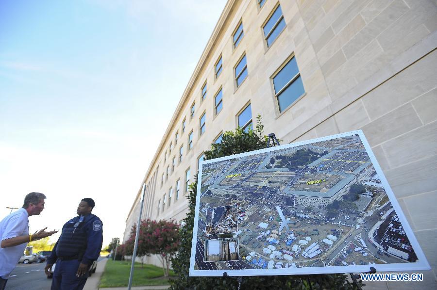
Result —
[[202, 161], [192, 276], [426, 270], [361, 130]]

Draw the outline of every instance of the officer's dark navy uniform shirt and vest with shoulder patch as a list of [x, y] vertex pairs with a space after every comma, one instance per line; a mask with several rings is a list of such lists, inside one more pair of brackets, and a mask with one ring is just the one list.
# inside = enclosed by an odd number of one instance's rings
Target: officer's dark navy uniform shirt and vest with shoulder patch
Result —
[[96, 215], [74, 217], [62, 227], [61, 236], [51, 251], [47, 264], [53, 264], [57, 258], [62, 258], [78, 259], [91, 265], [99, 258], [102, 242], [102, 222]]

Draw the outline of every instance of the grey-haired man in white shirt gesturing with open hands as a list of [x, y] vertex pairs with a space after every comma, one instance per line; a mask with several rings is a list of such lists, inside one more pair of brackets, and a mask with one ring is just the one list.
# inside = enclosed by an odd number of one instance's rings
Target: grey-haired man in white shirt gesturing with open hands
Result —
[[40, 214], [44, 209], [42, 193], [29, 193], [24, 198], [23, 207], [7, 215], [0, 222], [0, 290], [4, 290], [9, 274], [23, 255], [28, 242], [51, 236], [58, 231], [46, 232], [47, 227], [29, 235], [31, 215]]

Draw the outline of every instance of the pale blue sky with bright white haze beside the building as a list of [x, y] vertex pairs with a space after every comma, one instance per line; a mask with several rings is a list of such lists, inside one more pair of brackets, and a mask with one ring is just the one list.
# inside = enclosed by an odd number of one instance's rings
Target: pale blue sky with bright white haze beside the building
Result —
[[59, 229], [92, 197], [104, 243], [121, 237], [224, 5], [0, 1], [0, 218], [37, 191], [31, 230]]

